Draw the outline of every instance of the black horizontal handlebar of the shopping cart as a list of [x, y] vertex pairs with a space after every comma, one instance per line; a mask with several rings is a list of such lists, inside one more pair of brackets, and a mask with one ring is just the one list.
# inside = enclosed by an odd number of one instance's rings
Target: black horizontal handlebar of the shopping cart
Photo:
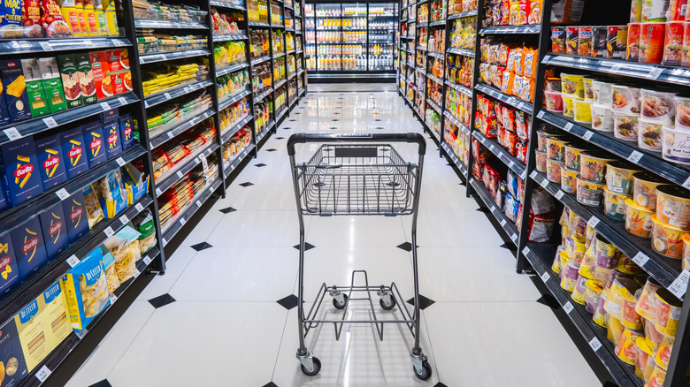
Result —
[[288, 156], [295, 156], [295, 144], [307, 142], [416, 142], [419, 156], [426, 155], [426, 140], [419, 133], [295, 133], [288, 139]]

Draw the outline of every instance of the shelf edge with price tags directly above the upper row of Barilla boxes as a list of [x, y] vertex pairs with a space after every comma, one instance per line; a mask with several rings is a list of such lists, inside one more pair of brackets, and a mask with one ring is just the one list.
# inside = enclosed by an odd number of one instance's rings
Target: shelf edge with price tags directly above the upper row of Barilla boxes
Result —
[[19, 140], [21, 137], [41, 133], [61, 125], [71, 124], [74, 121], [78, 121], [82, 118], [96, 116], [96, 114], [103, 113], [103, 111], [119, 108], [120, 106], [125, 106], [138, 101], [139, 97], [132, 92], [127, 92], [125, 94], [115, 95], [110, 98], [103, 99], [87, 106], [81, 106], [79, 108], [60, 111], [59, 113], [46, 115], [40, 118], [32, 118], [19, 123], [5, 125], [4, 127], [0, 128], [0, 144], [6, 144], [13, 140]]

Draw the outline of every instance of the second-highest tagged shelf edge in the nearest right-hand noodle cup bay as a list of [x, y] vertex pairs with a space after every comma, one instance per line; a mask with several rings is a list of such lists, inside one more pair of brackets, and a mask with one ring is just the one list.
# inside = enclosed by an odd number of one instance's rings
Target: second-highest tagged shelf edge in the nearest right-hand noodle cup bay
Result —
[[609, 135], [609, 133], [589, 130], [585, 126], [573, 123], [562, 116], [549, 113], [545, 110], [540, 110], [537, 114], [537, 118], [586, 140], [599, 148], [603, 148], [616, 156], [620, 156], [631, 163], [639, 165], [662, 178], [671, 180], [671, 182], [680, 186], [690, 188], [690, 171], [679, 167], [678, 164], [666, 162], [647, 150], [637, 148], [637, 143], [634, 143], [634, 145], [625, 144], [622, 141], [614, 139], [612, 134]]

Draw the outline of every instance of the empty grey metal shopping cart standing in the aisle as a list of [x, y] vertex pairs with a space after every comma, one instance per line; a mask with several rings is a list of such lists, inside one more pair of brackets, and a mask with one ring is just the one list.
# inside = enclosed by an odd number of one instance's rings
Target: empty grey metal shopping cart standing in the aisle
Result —
[[[295, 144], [323, 143], [307, 163], [295, 163]], [[418, 164], [406, 163], [395, 148], [386, 142], [408, 142], [418, 144]], [[410, 351], [412, 368], [423, 380], [431, 377], [432, 369], [419, 347], [419, 291], [417, 272], [417, 214], [419, 189], [421, 187], [422, 165], [426, 154], [426, 140], [418, 133], [395, 134], [306, 134], [297, 133], [288, 140], [288, 155], [292, 168], [295, 199], [300, 221], [300, 262], [297, 315], [299, 318], [300, 347], [297, 359], [302, 372], [315, 376], [321, 369], [321, 361], [311, 353], [304, 338], [309, 330], [320, 323], [334, 324], [335, 338], [340, 338], [344, 323], [371, 323], [383, 340], [386, 323], [406, 324], [414, 337]], [[412, 270], [414, 277], [414, 312], [403, 300], [394, 283], [369, 285], [364, 270], [352, 272], [349, 286], [321, 285], [309, 314], [304, 315], [304, 220], [303, 216], [412, 216]], [[364, 285], [355, 285], [355, 277], [364, 279]], [[380, 298], [380, 307], [391, 310], [397, 304], [402, 318], [377, 318], [372, 293]], [[364, 293], [364, 296], [353, 298]], [[319, 319], [318, 310], [329, 294], [333, 305], [342, 310], [340, 319]], [[350, 301], [369, 301], [371, 319], [349, 319]]]

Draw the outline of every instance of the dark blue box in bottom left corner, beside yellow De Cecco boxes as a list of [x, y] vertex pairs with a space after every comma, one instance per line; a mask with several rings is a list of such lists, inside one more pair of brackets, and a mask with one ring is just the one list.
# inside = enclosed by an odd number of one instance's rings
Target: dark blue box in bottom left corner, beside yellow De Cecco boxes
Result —
[[[19, 332], [14, 320], [6, 322], [0, 328], [0, 362], [4, 371], [4, 379], [0, 387], [15, 387], [28, 375], [27, 361], [21, 351]], [[4, 368], [4, 369], [3, 369]]]

